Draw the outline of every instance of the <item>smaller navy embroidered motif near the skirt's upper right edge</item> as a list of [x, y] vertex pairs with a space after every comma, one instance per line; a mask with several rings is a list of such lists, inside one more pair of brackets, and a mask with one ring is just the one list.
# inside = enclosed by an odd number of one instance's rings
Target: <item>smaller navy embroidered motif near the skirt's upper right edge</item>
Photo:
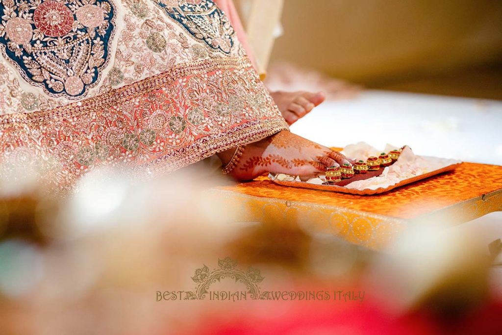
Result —
[[152, 0], [194, 38], [215, 51], [229, 55], [235, 44], [234, 30], [211, 0]]

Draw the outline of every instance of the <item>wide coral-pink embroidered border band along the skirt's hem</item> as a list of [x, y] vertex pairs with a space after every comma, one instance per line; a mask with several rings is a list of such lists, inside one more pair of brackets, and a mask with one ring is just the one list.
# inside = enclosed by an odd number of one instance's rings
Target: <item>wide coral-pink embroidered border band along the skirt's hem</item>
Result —
[[83, 101], [0, 117], [0, 179], [35, 158], [48, 165], [43, 178], [63, 189], [103, 165], [151, 177], [285, 129], [247, 59], [197, 61]]

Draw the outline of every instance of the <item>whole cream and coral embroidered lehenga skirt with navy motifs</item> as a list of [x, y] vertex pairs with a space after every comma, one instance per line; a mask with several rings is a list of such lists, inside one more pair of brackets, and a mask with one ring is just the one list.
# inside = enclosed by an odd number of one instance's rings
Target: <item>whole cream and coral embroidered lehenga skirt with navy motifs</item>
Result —
[[[158, 175], [287, 129], [209, 0], [0, 0], [0, 178]], [[3, 171], [3, 172], [2, 172]]]

